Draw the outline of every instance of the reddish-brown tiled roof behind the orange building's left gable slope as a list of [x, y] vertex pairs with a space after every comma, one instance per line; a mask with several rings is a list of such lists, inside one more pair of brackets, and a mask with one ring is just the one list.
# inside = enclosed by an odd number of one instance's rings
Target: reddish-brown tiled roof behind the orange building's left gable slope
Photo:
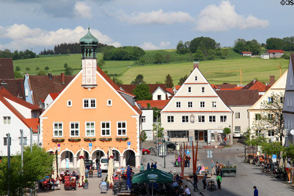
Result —
[[58, 93], [63, 90], [74, 78], [75, 75], [65, 75], [65, 83], [62, 84], [61, 75], [30, 75], [29, 83], [33, 91], [33, 101], [39, 104], [41, 99], [45, 99], [49, 93]]

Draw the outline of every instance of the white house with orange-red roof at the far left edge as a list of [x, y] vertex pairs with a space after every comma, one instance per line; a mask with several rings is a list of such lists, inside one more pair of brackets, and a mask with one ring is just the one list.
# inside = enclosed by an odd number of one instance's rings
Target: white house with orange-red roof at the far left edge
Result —
[[7, 133], [11, 137], [11, 154], [21, 150], [20, 129], [24, 132], [24, 145], [29, 145], [30, 128], [33, 131], [33, 143], [37, 142], [37, 126], [41, 108], [17, 98], [5, 88], [0, 88], [0, 147], [1, 156], [7, 156]]

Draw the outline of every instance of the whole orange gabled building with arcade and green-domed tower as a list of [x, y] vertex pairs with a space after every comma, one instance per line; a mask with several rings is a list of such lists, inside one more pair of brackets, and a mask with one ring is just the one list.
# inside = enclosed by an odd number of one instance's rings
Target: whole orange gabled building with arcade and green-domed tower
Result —
[[121, 91], [97, 68], [98, 40], [90, 33], [80, 39], [82, 70], [40, 116], [43, 147], [56, 147], [62, 168], [77, 168], [79, 152], [85, 159], [107, 156], [113, 149], [115, 166], [141, 162], [142, 111], [135, 96]]

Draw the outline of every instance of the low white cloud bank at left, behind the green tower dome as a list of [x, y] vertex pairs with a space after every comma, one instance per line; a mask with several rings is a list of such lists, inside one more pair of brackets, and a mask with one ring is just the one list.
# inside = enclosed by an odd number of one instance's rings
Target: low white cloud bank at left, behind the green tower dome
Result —
[[[88, 29], [77, 26], [74, 29], [60, 28], [56, 31], [48, 31], [40, 28], [30, 28], [24, 24], [14, 24], [12, 26], [0, 26], [0, 38], [11, 39], [10, 43], [0, 45], [0, 49], [31, 49], [35, 47], [50, 47], [53, 48], [56, 44], [74, 43], [82, 38]], [[98, 29], [91, 29], [91, 33], [102, 44], [113, 45], [120, 47], [121, 43], [114, 42], [107, 35], [103, 35]]]

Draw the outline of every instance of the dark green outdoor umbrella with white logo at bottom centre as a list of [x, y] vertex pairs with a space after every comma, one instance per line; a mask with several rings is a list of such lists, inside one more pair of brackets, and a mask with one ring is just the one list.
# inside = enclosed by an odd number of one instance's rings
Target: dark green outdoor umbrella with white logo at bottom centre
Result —
[[153, 183], [172, 183], [172, 174], [151, 168], [144, 172], [136, 173], [133, 176], [132, 183], [152, 183], [153, 196]]

